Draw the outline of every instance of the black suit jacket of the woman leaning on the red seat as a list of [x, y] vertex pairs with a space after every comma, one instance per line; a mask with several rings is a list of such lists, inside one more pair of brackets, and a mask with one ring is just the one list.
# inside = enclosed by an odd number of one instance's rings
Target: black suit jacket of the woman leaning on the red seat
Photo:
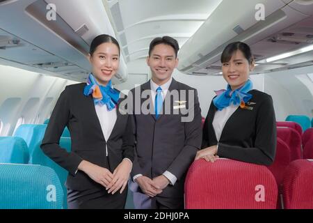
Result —
[[251, 90], [246, 108], [238, 107], [217, 141], [213, 127], [217, 111], [213, 100], [205, 118], [202, 148], [218, 144], [217, 155], [243, 162], [271, 165], [275, 158], [276, 121], [271, 95]]

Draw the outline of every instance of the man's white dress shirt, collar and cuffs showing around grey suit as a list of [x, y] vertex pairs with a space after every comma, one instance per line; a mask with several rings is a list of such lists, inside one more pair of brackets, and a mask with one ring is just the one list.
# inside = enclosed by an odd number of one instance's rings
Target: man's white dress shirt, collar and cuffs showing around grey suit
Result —
[[[164, 101], [165, 97], [166, 97], [166, 93], [168, 93], [168, 88], [170, 87], [170, 83], [172, 83], [172, 77], [170, 77], [170, 79], [168, 80], [168, 82], [166, 82], [165, 84], [162, 84], [160, 87], [162, 89], [161, 91], [161, 95], [162, 95], [162, 99]], [[159, 85], [157, 85], [156, 83], [154, 83], [152, 81], [152, 79], [150, 79], [150, 88], [151, 88], [151, 96], [152, 96], [152, 103], [154, 106], [155, 103], [155, 95], [157, 95], [157, 88], [159, 87]], [[138, 176], [143, 176], [143, 174], [137, 174], [136, 176], [134, 176], [133, 180], [135, 181], [136, 178], [138, 178]], [[170, 171], [165, 171], [163, 173], [163, 176], [165, 176], [166, 178], [168, 178], [168, 180], [170, 180], [170, 184], [174, 185], [177, 181], [177, 177], [170, 173]]]

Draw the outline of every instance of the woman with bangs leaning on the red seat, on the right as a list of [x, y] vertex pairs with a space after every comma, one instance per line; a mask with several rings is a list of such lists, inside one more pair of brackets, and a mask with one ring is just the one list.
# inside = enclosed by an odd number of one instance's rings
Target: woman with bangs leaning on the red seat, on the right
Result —
[[195, 160], [225, 157], [270, 165], [275, 157], [276, 123], [271, 95], [253, 89], [255, 61], [246, 43], [230, 43], [221, 56], [227, 90], [211, 102], [204, 122], [202, 150]]

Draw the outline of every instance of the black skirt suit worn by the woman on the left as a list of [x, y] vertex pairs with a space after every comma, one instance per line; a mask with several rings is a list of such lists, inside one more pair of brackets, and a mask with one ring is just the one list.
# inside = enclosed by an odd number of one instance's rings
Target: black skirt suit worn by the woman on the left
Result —
[[[113, 173], [124, 158], [134, 160], [134, 135], [131, 119], [117, 106], [117, 119], [109, 139], [104, 139], [97, 118], [93, 96], [83, 95], [86, 83], [66, 86], [56, 102], [42, 140], [42, 151], [69, 171], [66, 186], [69, 208], [124, 208], [127, 188], [122, 194], [108, 194], [105, 188], [83, 171], [77, 171], [82, 160], [105, 167]], [[118, 105], [122, 99], [118, 101]], [[106, 105], [104, 105], [106, 106]], [[72, 150], [67, 153], [59, 146], [63, 129], [67, 126]], [[106, 156], [106, 147], [108, 156]]]

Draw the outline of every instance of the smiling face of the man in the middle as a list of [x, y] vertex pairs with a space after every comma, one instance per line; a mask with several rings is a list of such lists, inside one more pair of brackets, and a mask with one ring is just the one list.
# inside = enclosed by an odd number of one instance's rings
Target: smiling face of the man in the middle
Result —
[[147, 57], [147, 65], [150, 66], [152, 80], [159, 86], [168, 82], [173, 70], [177, 68], [177, 64], [175, 49], [163, 43], [155, 45], [150, 56]]

